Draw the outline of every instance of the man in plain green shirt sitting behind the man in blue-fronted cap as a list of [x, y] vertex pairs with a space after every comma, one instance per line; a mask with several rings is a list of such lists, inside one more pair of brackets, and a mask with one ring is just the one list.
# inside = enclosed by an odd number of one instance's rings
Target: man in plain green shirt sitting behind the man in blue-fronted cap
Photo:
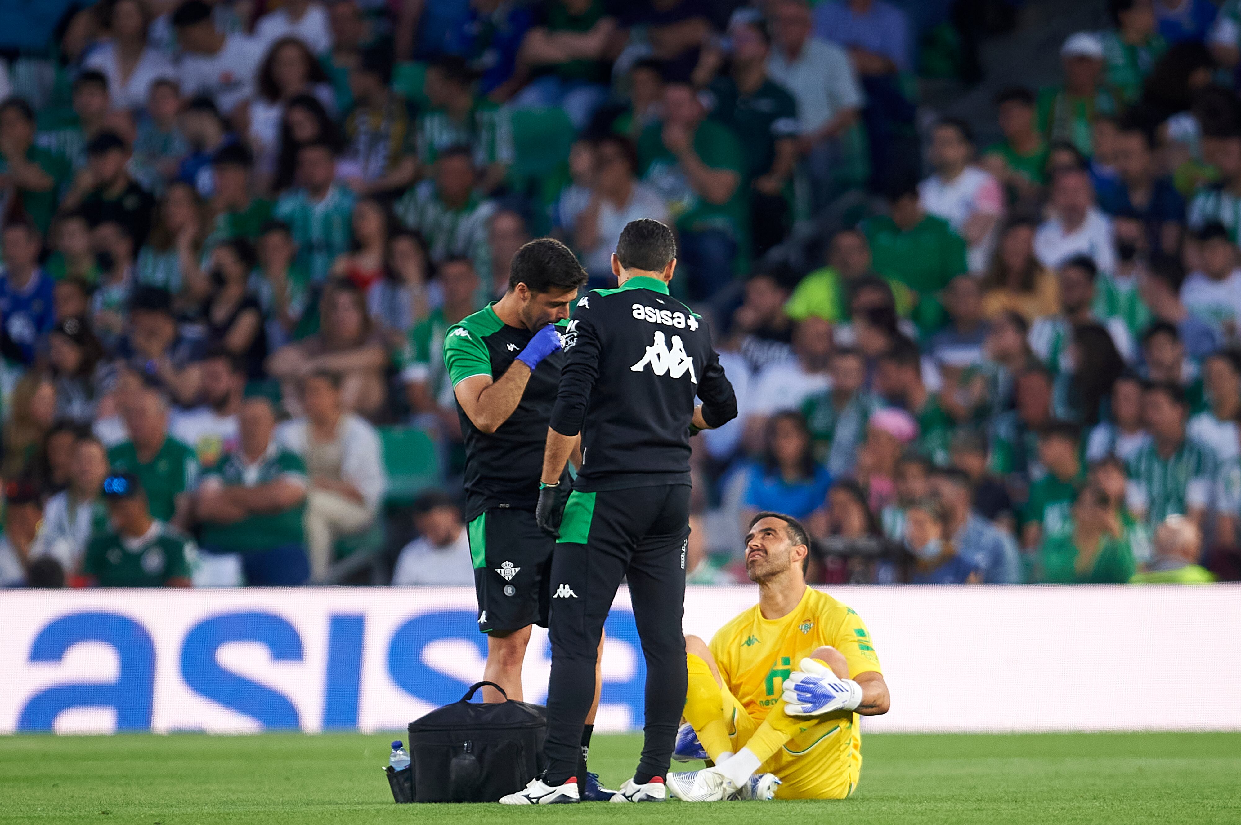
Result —
[[199, 460], [194, 450], [169, 435], [168, 401], [158, 390], [143, 388], [127, 399], [122, 419], [129, 441], [108, 451], [108, 463], [138, 477], [148, 491], [151, 515], [175, 526], [187, 525]]

